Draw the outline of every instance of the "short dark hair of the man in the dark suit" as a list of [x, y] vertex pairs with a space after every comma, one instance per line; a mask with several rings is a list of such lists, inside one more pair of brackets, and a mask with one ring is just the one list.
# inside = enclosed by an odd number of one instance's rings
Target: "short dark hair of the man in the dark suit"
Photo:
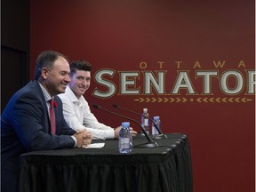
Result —
[[38, 78], [41, 76], [42, 68], [52, 69], [54, 61], [58, 60], [59, 57], [62, 57], [65, 60], [68, 60], [68, 58], [65, 55], [61, 54], [60, 52], [54, 52], [54, 51], [41, 52], [36, 59], [34, 79], [38, 80]]

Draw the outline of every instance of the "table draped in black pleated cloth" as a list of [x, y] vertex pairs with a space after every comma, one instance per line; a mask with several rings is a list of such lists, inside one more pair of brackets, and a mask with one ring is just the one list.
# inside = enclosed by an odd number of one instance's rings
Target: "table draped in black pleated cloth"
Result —
[[[104, 148], [35, 151], [20, 156], [20, 192], [192, 192], [188, 136], [166, 134], [158, 148], [118, 153], [118, 140]], [[147, 142], [133, 138], [133, 145]]]

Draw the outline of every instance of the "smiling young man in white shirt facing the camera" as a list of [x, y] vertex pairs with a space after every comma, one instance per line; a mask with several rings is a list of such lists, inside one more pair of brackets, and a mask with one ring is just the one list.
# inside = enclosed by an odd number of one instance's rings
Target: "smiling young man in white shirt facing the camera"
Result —
[[[99, 123], [92, 114], [84, 92], [90, 87], [92, 65], [85, 60], [70, 63], [70, 83], [66, 92], [58, 96], [63, 103], [63, 115], [67, 124], [74, 130], [86, 129], [92, 133], [93, 139], [118, 139], [121, 126], [115, 129]], [[137, 132], [132, 131], [132, 135]]]

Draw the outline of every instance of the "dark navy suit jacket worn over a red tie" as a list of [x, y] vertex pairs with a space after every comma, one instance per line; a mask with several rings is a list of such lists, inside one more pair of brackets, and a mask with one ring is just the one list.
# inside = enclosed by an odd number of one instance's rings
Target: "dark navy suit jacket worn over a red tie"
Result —
[[9, 100], [1, 117], [1, 173], [2, 191], [12, 191], [17, 185], [19, 156], [34, 150], [74, 148], [75, 131], [68, 127], [62, 113], [62, 102], [54, 97], [57, 107], [56, 135], [51, 135], [44, 94], [37, 81], [31, 81]]

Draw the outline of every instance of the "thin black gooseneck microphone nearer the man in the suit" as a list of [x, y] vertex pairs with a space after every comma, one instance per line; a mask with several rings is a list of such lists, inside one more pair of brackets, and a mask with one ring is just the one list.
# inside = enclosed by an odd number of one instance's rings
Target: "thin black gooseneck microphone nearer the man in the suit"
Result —
[[[115, 112], [109, 111], [109, 110], [106, 109], [106, 108], [101, 108], [99, 105], [93, 104], [93, 108], [100, 108], [100, 109], [102, 109], [102, 110], [104, 110], [104, 111], [107, 111], [108, 113], [111, 113], [111, 114], [113, 114], [113, 115], [115, 115], [115, 116], [121, 116], [121, 117], [123, 117], [123, 118], [125, 118], [125, 119], [128, 119], [128, 120], [130, 120], [130, 121], [132, 121], [132, 122], [134, 122], [134, 123], [140, 125], [139, 122], [137, 122], [136, 120], [134, 120], [134, 119], [132, 119], [132, 118], [129, 118], [129, 117], [127, 117], [127, 116], [122, 116], [122, 115], [117, 114], [117, 113], [115, 113]], [[134, 146], [134, 148], [156, 148], [156, 147], [158, 147], [158, 144], [157, 144], [155, 141], [153, 141], [153, 140], [149, 137], [148, 132], [146, 132], [146, 130], [144, 129], [144, 127], [142, 127], [142, 126], [140, 125], [140, 128], [141, 128], [141, 131], [145, 134], [145, 136], [146, 136], [148, 142], [147, 142], [147, 143], [140, 144], [140, 145], [137, 145], [137, 146]]]

